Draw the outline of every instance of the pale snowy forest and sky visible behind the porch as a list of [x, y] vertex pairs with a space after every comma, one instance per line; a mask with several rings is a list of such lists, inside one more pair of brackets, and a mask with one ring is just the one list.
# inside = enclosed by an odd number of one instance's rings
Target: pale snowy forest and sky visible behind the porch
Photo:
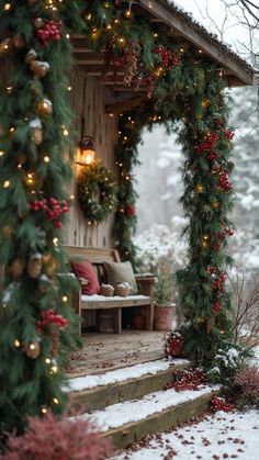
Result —
[[[259, 24], [237, 2], [229, 0], [174, 2], [226, 43], [259, 71]], [[229, 7], [229, 4], [232, 4]], [[236, 226], [229, 244], [235, 265], [259, 270], [259, 93], [258, 86], [226, 90], [232, 109], [229, 125], [235, 130], [233, 182], [236, 206], [232, 216]], [[145, 131], [139, 146], [140, 166], [135, 170], [138, 232], [147, 269], [155, 268], [168, 253], [173, 269], [184, 262], [184, 240], [179, 237], [184, 225], [179, 204], [181, 184], [181, 146], [177, 136], [156, 126]]]

